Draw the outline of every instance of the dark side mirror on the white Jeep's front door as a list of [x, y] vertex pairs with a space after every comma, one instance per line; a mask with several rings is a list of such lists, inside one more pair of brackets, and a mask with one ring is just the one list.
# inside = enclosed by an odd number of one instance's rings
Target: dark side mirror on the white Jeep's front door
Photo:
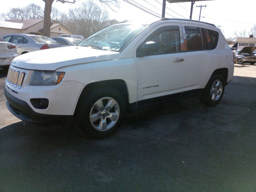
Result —
[[148, 55], [149, 53], [158, 52], [159, 45], [154, 41], [148, 41], [140, 45], [139, 49], [137, 50], [137, 57], [143, 57]]

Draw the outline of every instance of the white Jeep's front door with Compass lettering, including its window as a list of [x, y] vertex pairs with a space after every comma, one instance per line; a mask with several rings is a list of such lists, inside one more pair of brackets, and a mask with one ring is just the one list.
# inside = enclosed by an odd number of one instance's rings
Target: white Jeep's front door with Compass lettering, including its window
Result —
[[135, 58], [138, 75], [137, 106], [181, 97], [186, 55], [181, 52], [180, 42], [183, 43], [183, 37], [180, 24], [158, 25], [144, 39], [143, 42], [156, 42], [159, 50]]

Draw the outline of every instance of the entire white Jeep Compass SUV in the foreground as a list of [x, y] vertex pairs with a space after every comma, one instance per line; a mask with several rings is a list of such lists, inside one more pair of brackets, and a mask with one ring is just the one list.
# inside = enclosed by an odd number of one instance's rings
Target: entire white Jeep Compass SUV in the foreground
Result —
[[108, 136], [126, 111], [187, 97], [215, 106], [234, 73], [234, 55], [213, 24], [161, 19], [111, 25], [79, 46], [13, 59], [7, 107], [23, 121], [67, 124]]

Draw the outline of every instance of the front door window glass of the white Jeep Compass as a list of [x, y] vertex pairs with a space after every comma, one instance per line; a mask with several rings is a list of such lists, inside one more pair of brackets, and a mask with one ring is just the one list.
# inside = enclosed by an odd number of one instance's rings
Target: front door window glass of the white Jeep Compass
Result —
[[179, 26], [168, 26], [157, 29], [146, 41], [154, 41], [159, 45], [158, 54], [180, 51]]

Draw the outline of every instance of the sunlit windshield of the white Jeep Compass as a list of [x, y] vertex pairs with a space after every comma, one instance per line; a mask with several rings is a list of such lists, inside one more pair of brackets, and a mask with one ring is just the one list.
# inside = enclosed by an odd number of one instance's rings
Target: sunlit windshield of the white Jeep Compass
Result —
[[146, 25], [111, 25], [82, 41], [79, 46], [92, 46], [104, 50], [119, 51]]

